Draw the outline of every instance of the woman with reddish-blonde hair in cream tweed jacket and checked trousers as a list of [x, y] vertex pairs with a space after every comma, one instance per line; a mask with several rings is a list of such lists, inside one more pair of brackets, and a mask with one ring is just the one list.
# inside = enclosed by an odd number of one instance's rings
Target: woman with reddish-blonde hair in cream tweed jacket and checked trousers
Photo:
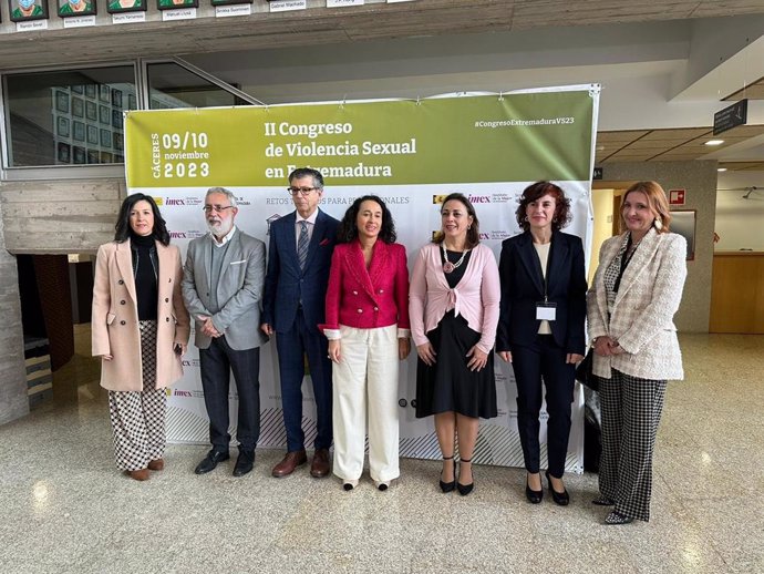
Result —
[[602, 244], [587, 295], [593, 373], [600, 378], [600, 496], [606, 524], [650, 517], [652, 452], [668, 379], [682, 379], [673, 316], [686, 277], [686, 242], [669, 233], [671, 214], [655, 182], [623, 196], [627, 232]]

